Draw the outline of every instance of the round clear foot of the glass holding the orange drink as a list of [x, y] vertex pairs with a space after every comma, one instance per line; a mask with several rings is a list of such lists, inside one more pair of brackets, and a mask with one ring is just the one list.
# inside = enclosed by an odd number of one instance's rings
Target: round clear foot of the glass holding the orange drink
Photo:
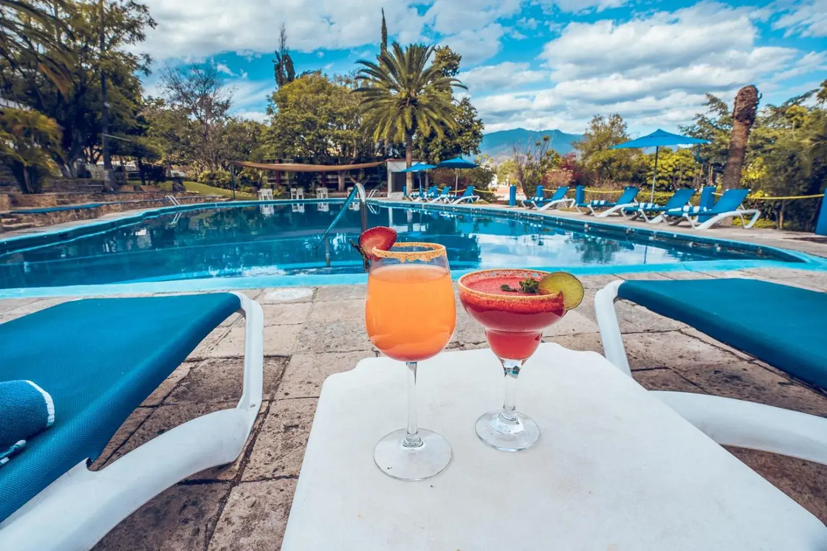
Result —
[[402, 445], [405, 433], [404, 429], [394, 430], [376, 444], [373, 460], [382, 473], [399, 480], [424, 480], [442, 473], [451, 463], [451, 445], [442, 436], [419, 429], [422, 445], [406, 448]]

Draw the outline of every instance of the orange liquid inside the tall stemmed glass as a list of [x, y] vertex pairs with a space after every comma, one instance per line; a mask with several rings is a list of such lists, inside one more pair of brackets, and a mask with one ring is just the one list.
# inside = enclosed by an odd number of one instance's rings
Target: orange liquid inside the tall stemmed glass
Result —
[[439, 354], [454, 332], [451, 272], [433, 264], [390, 264], [370, 271], [365, 326], [370, 342], [403, 362]]

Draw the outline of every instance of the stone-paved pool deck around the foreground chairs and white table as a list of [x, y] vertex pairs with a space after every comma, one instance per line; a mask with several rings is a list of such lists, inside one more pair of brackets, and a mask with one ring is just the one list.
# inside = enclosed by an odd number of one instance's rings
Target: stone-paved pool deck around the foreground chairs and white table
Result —
[[[547, 330], [545, 340], [602, 352], [594, 296], [614, 279], [721, 277], [762, 278], [827, 291], [827, 272], [793, 269], [584, 277], [585, 301]], [[265, 401], [245, 452], [236, 463], [198, 473], [155, 497], [112, 530], [96, 551], [280, 548], [324, 378], [378, 353], [365, 334], [364, 285], [246, 292], [265, 311]], [[69, 298], [0, 300], [0, 321], [64, 300]], [[705, 392], [827, 416], [827, 392], [791, 380], [641, 306], [619, 302], [618, 310], [633, 377], [643, 387]], [[232, 406], [241, 395], [243, 339], [238, 316], [214, 330], [122, 425], [94, 468], [184, 420]], [[460, 307], [449, 348], [480, 347], [485, 347], [485, 335]], [[490, 368], [498, 368], [493, 356]], [[399, 425], [403, 424], [400, 419]], [[827, 466], [743, 449], [730, 451], [827, 522]]]

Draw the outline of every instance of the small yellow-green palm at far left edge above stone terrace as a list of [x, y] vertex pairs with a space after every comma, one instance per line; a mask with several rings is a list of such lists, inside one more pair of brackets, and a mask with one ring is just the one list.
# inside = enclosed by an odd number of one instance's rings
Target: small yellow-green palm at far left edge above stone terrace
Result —
[[0, 111], [0, 161], [14, 174], [24, 193], [39, 193], [43, 179], [60, 155], [60, 128], [39, 112], [3, 108]]

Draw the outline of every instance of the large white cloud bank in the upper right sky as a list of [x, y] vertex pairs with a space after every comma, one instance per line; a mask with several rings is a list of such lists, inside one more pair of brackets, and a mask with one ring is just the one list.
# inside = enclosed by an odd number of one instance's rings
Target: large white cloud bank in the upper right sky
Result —
[[486, 131], [581, 132], [592, 116], [615, 112], [633, 128], [674, 129], [704, 110], [705, 93], [729, 102], [745, 84], [769, 91], [779, 79], [824, 67], [825, 52], [757, 46], [753, 21], [748, 8], [700, 2], [625, 22], [571, 22], [539, 56], [549, 71], [547, 87], [480, 97], [486, 89], [508, 89], [504, 83], [519, 82], [519, 75], [528, 75], [523, 83], [534, 76], [541, 83], [543, 71], [527, 64], [479, 67], [463, 77]]

